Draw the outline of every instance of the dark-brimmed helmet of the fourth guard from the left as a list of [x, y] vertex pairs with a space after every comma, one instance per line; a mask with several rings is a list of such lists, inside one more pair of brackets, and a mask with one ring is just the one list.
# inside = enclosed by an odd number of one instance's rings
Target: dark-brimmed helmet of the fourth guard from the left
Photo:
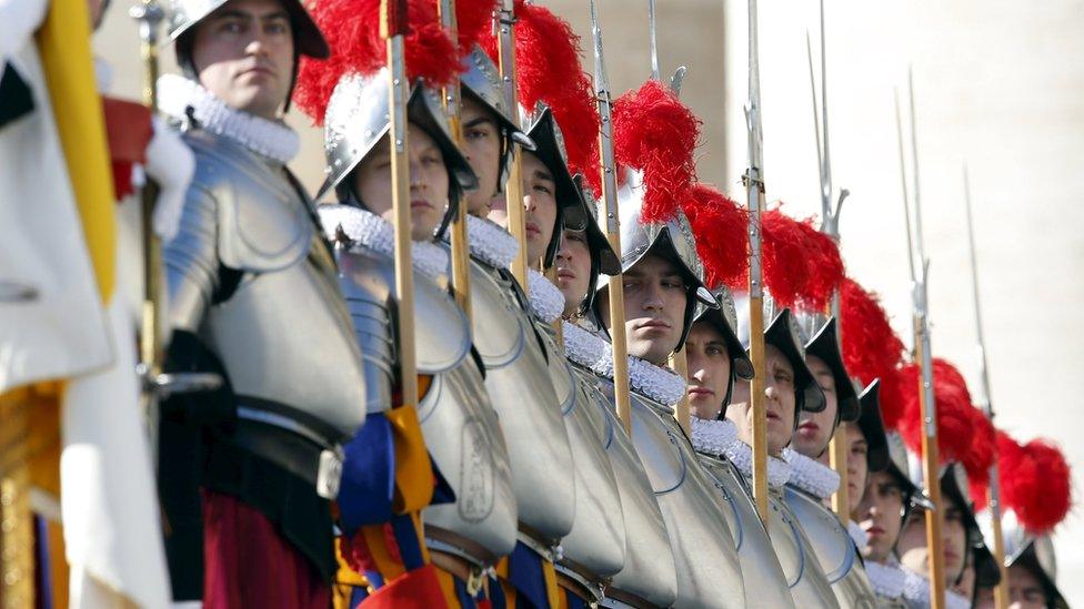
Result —
[[542, 257], [543, 267], [549, 268], [553, 265], [553, 258], [561, 247], [562, 227], [583, 231], [588, 226], [583, 192], [569, 170], [564, 134], [561, 133], [561, 126], [553, 118], [553, 111], [545, 104], [539, 104], [533, 113], [526, 112], [523, 108], [520, 110], [523, 115], [523, 124], [531, 125], [528, 129], [528, 136], [534, 142], [534, 150], [530, 153], [538, 156], [542, 164], [550, 170], [555, 184], [553, 196], [556, 202], [556, 217], [553, 223], [553, 233], [550, 235], [550, 243], [546, 244], [545, 254]]

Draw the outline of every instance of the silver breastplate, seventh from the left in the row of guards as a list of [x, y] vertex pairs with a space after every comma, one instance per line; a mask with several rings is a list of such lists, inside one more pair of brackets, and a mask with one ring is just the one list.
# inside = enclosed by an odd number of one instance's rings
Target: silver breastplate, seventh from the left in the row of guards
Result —
[[719, 490], [723, 514], [734, 534], [745, 589], [754, 596], [750, 605], [794, 607], [786, 576], [741, 474], [727, 460], [700, 455], [700, 461]]

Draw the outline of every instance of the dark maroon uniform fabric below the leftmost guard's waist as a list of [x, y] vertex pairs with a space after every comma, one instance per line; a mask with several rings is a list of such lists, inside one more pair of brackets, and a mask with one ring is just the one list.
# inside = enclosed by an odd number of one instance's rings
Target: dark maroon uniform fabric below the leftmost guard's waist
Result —
[[263, 514], [203, 491], [203, 607], [327, 609], [331, 588]]

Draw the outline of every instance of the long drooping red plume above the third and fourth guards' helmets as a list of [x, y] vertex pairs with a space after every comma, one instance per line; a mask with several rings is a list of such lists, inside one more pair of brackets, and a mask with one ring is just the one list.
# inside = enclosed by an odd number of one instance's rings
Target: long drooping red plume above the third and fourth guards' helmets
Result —
[[[523, 108], [550, 106], [564, 135], [569, 169], [583, 174], [601, 192], [599, 109], [591, 79], [583, 71], [580, 37], [550, 9], [515, 2], [515, 81]], [[485, 51], [496, 61], [498, 40], [484, 37]]]

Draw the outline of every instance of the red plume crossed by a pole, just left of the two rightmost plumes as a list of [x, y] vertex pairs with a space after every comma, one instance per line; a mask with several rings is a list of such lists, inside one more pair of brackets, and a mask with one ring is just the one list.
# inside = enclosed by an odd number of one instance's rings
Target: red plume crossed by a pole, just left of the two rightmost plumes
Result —
[[[907, 364], [901, 368], [904, 413], [897, 429], [904, 443], [917, 454], [922, 453], [922, 408], [920, 405], [919, 366]], [[971, 457], [972, 418], [975, 407], [963, 376], [955, 366], [944, 359], [933, 361], [934, 399], [937, 405], [937, 447], [941, 461], [964, 461]]]

